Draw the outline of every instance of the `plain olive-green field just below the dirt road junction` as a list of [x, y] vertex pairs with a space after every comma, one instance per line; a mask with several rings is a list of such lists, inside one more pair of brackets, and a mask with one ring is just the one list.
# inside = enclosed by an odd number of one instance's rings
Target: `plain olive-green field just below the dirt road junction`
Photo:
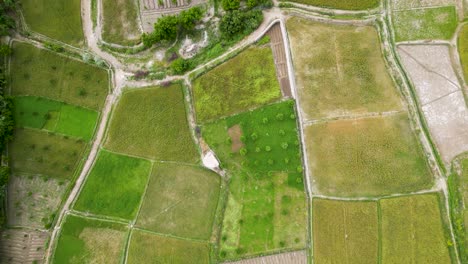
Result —
[[112, 115], [105, 146], [155, 160], [196, 162], [181, 85], [125, 92]]

